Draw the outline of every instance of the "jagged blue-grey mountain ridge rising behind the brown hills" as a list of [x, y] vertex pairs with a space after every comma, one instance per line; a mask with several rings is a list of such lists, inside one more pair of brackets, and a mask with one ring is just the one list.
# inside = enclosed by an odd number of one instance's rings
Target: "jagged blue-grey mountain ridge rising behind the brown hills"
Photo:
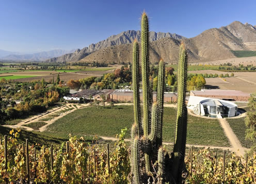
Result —
[[[151, 31], [149, 34], [149, 40], [156, 41], [162, 38], [173, 38], [177, 40], [184, 39], [183, 36], [178, 34], [172, 34], [172, 33], [163, 33], [163, 32], [153, 32]], [[65, 54], [60, 57], [51, 58], [49, 60], [46, 60], [46, 62], [77, 62], [86, 56], [88, 56], [90, 53], [94, 51], [98, 51], [100, 49], [104, 49], [110, 46], [115, 45], [125, 45], [130, 44], [134, 41], [134, 39], [137, 39], [140, 41], [140, 31], [135, 30], [128, 30], [121, 32], [117, 35], [109, 36], [106, 40], [103, 40], [101, 42], [98, 42], [96, 44], [91, 44], [89, 47], [84, 47], [83, 49], [77, 49], [73, 53]]]

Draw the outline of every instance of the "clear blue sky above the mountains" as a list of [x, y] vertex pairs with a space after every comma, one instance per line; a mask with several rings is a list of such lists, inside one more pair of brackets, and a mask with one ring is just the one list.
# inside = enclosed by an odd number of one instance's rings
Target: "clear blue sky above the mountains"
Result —
[[126, 30], [194, 37], [234, 21], [256, 25], [255, 0], [0, 0], [0, 49], [22, 53], [76, 49]]

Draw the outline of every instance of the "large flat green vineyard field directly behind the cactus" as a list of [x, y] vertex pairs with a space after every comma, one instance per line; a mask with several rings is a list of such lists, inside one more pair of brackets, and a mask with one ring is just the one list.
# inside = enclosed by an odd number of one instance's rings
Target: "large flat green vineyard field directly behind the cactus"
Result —
[[[175, 135], [176, 109], [165, 107], [163, 139], [173, 142]], [[134, 122], [133, 106], [100, 107], [95, 106], [77, 109], [47, 128], [48, 132], [68, 136], [98, 135], [115, 137], [122, 128], [127, 127], [126, 138], [130, 138]], [[199, 145], [230, 146], [217, 119], [204, 119], [188, 116], [187, 143]]]

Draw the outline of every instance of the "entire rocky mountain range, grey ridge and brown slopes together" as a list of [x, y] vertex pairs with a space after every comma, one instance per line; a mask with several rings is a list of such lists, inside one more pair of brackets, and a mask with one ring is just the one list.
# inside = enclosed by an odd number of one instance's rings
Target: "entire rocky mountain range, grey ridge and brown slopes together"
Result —
[[[55, 62], [106, 62], [126, 63], [132, 61], [134, 39], [140, 41], [139, 31], [126, 31], [92, 44], [72, 54], [53, 58]], [[177, 34], [150, 33], [150, 58], [157, 62], [163, 58], [167, 63], [177, 63], [181, 40], [188, 49], [189, 62], [235, 58], [231, 50], [256, 50], [256, 28], [248, 23], [235, 21], [228, 26], [205, 30], [194, 38]]]

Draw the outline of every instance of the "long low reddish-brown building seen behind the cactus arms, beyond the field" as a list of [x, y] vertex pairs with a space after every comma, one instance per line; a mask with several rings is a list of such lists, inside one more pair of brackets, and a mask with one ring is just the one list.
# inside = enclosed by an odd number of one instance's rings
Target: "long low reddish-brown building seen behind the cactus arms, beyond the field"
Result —
[[[153, 92], [153, 101], [156, 101], [156, 92]], [[110, 99], [114, 101], [133, 102], [133, 91], [130, 89], [118, 89], [110, 94]], [[178, 96], [176, 93], [164, 93], [164, 102], [176, 103]], [[143, 100], [142, 90], [140, 90], [140, 100]]]

